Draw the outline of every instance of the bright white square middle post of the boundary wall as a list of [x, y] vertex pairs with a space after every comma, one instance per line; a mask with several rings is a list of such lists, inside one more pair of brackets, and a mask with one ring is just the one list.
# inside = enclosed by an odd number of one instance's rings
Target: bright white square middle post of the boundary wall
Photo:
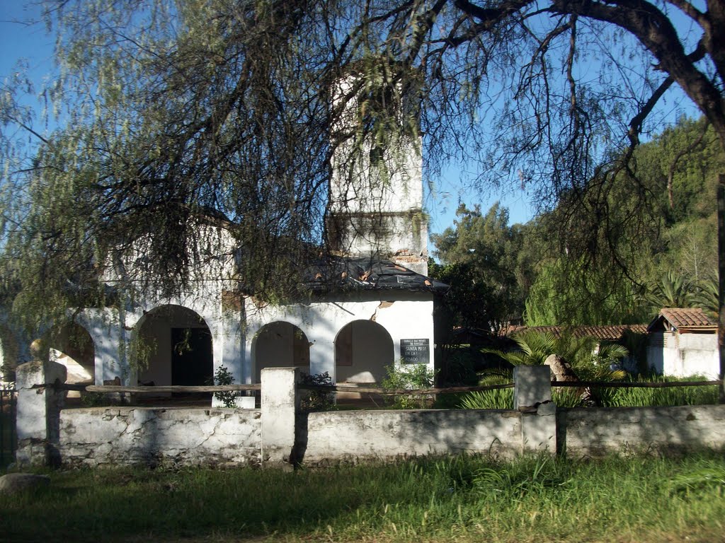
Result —
[[299, 410], [298, 368], [264, 368], [262, 381], [262, 466], [291, 469]]

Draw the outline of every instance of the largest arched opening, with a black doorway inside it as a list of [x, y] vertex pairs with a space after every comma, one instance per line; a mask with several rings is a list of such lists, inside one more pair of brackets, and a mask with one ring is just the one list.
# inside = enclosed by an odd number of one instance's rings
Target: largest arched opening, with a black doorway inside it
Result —
[[214, 374], [212, 334], [198, 313], [182, 306], [159, 306], [136, 324], [133, 353], [147, 385], [210, 384]]

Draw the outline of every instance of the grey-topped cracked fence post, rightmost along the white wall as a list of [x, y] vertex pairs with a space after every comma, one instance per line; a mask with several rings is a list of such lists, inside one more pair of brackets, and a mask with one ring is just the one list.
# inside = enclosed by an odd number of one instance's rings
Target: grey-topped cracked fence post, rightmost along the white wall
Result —
[[549, 366], [516, 366], [513, 408], [521, 412], [521, 452], [556, 452], [556, 405]]

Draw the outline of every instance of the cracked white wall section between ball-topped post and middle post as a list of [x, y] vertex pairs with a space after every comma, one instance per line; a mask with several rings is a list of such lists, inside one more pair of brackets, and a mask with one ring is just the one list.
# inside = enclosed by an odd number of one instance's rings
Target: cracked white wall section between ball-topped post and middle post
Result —
[[203, 408], [79, 408], [60, 413], [65, 466], [260, 463], [260, 411]]

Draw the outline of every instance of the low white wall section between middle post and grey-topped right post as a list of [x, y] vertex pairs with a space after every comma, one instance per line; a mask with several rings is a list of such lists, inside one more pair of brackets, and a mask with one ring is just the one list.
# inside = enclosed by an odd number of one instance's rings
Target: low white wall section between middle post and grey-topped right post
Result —
[[460, 452], [521, 454], [518, 411], [331, 411], [302, 417], [308, 465]]

